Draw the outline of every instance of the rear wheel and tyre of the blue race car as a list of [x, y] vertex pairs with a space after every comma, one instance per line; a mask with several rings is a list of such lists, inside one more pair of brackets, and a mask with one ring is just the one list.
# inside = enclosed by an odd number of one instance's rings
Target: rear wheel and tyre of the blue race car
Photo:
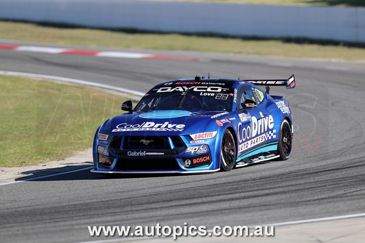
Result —
[[283, 120], [279, 131], [277, 154], [280, 159], [287, 160], [292, 152], [292, 130], [287, 120]]

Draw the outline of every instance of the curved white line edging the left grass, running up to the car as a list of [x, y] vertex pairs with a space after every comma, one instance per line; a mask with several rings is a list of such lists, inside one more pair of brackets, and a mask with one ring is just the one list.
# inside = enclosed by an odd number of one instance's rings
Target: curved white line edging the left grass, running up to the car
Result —
[[119, 87], [115, 87], [115, 86], [111, 86], [111, 85], [99, 84], [99, 83], [83, 81], [83, 80], [78, 80], [78, 79], [73, 79], [73, 78], [63, 78], [63, 77], [56, 77], [56, 76], [49, 76], [49, 75], [42, 75], [42, 74], [35, 74], [35, 73], [19, 73], [19, 72], [8, 72], [8, 71], [0, 71], [0, 75], [46, 78], [46, 79], [50, 79], [50, 80], [64, 81], [64, 82], [70, 82], [70, 83], [74, 83], [74, 84], [82, 84], [82, 85], [94, 86], [94, 87], [98, 87], [98, 88], [117, 90], [120, 92], [132, 94], [132, 95], [138, 95], [138, 96], [145, 95], [145, 93], [138, 92], [138, 91], [131, 90], [131, 89], [124, 89], [124, 88], [119, 88]]

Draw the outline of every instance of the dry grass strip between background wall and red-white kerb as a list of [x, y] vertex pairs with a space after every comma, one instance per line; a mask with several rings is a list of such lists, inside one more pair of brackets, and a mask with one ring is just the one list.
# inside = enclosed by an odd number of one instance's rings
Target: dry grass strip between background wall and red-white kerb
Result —
[[192, 50], [285, 57], [365, 60], [364, 46], [343, 46], [341, 43], [127, 33], [88, 28], [57, 28], [32, 23], [5, 21], [0, 22], [0, 29], [0, 38], [5, 39], [91, 47]]

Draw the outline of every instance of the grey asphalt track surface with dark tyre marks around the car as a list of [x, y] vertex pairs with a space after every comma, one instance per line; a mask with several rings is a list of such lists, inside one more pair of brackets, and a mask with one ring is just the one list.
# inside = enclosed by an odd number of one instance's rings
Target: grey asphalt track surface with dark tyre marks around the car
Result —
[[208, 72], [211, 77], [241, 79], [288, 78], [295, 73], [296, 89], [270, 91], [285, 94], [291, 105], [296, 123], [291, 158], [225, 173], [110, 179], [80, 171], [3, 185], [0, 242], [104, 239], [89, 236], [88, 225], [187, 222], [212, 228], [365, 212], [364, 63], [147, 52], [204, 59], [166, 61], [0, 50], [0, 70], [76, 78], [141, 92], [165, 80], [207, 76]]

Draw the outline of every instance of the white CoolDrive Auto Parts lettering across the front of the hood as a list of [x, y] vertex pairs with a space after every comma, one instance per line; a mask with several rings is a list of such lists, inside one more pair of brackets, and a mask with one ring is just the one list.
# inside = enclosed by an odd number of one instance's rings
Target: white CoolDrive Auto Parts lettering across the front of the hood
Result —
[[143, 122], [142, 124], [120, 123], [112, 132], [124, 131], [183, 131], [185, 124], [154, 123], [153, 121]]

